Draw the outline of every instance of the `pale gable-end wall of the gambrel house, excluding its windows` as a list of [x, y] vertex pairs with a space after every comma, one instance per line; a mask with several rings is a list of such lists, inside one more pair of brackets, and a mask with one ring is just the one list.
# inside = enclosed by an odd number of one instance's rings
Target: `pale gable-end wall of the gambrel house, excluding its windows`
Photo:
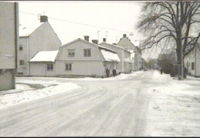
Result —
[[[87, 48], [91, 49], [91, 57], [84, 57], [84, 49]], [[75, 49], [74, 57], [68, 57], [68, 49]], [[67, 63], [72, 63], [72, 71], [65, 70]], [[56, 74], [59, 76], [104, 76], [103, 56], [96, 45], [77, 40], [60, 48], [56, 59]]]

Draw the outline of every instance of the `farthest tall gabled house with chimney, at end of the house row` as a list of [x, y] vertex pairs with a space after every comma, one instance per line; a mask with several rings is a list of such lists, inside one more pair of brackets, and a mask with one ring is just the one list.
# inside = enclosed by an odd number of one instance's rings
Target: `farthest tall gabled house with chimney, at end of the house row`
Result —
[[132, 64], [132, 70], [140, 70], [143, 67], [143, 60], [142, 60], [142, 52], [139, 47], [136, 47], [131, 40], [126, 36], [126, 34], [123, 34], [123, 37], [120, 38], [117, 45], [125, 48], [126, 50], [130, 51], [132, 53], [134, 58], [134, 64]]

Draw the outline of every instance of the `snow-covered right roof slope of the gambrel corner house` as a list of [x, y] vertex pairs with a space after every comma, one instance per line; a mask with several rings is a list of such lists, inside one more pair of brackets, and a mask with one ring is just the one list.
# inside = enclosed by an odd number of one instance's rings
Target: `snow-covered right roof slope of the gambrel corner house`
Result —
[[105, 50], [105, 49], [100, 49], [105, 61], [115, 61], [115, 62], [120, 62], [119, 56], [117, 53]]

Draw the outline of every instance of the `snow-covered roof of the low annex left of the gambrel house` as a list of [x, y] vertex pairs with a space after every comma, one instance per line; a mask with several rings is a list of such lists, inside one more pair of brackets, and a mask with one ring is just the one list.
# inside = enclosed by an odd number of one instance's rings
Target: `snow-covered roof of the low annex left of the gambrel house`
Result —
[[40, 51], [30, 60], [30, 62], [54, 62], [57, 54], [58, 50]]

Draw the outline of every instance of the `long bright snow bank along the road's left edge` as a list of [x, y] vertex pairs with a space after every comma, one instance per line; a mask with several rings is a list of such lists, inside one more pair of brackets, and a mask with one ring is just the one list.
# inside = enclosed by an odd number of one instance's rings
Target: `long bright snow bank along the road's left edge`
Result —
[[[22, 86], [19, 87], [20, 89], [23, 89]], [[19, 103], [24, 103], [31, 100], [52, 96], [59, 93], [69, 92], [79, 88], [80, 86], [78, 86], [77, 84], [68, 82], [68, 83], [60, 83], [56, 86], [50, 86], [44, 89], [38, 89], [38, 90], [32, 89], [18, 93], [14, 92], [14, 90], [11, 90], [12, 93], [10, 94], [0, 95], [0, 109], [16, 105]]]

